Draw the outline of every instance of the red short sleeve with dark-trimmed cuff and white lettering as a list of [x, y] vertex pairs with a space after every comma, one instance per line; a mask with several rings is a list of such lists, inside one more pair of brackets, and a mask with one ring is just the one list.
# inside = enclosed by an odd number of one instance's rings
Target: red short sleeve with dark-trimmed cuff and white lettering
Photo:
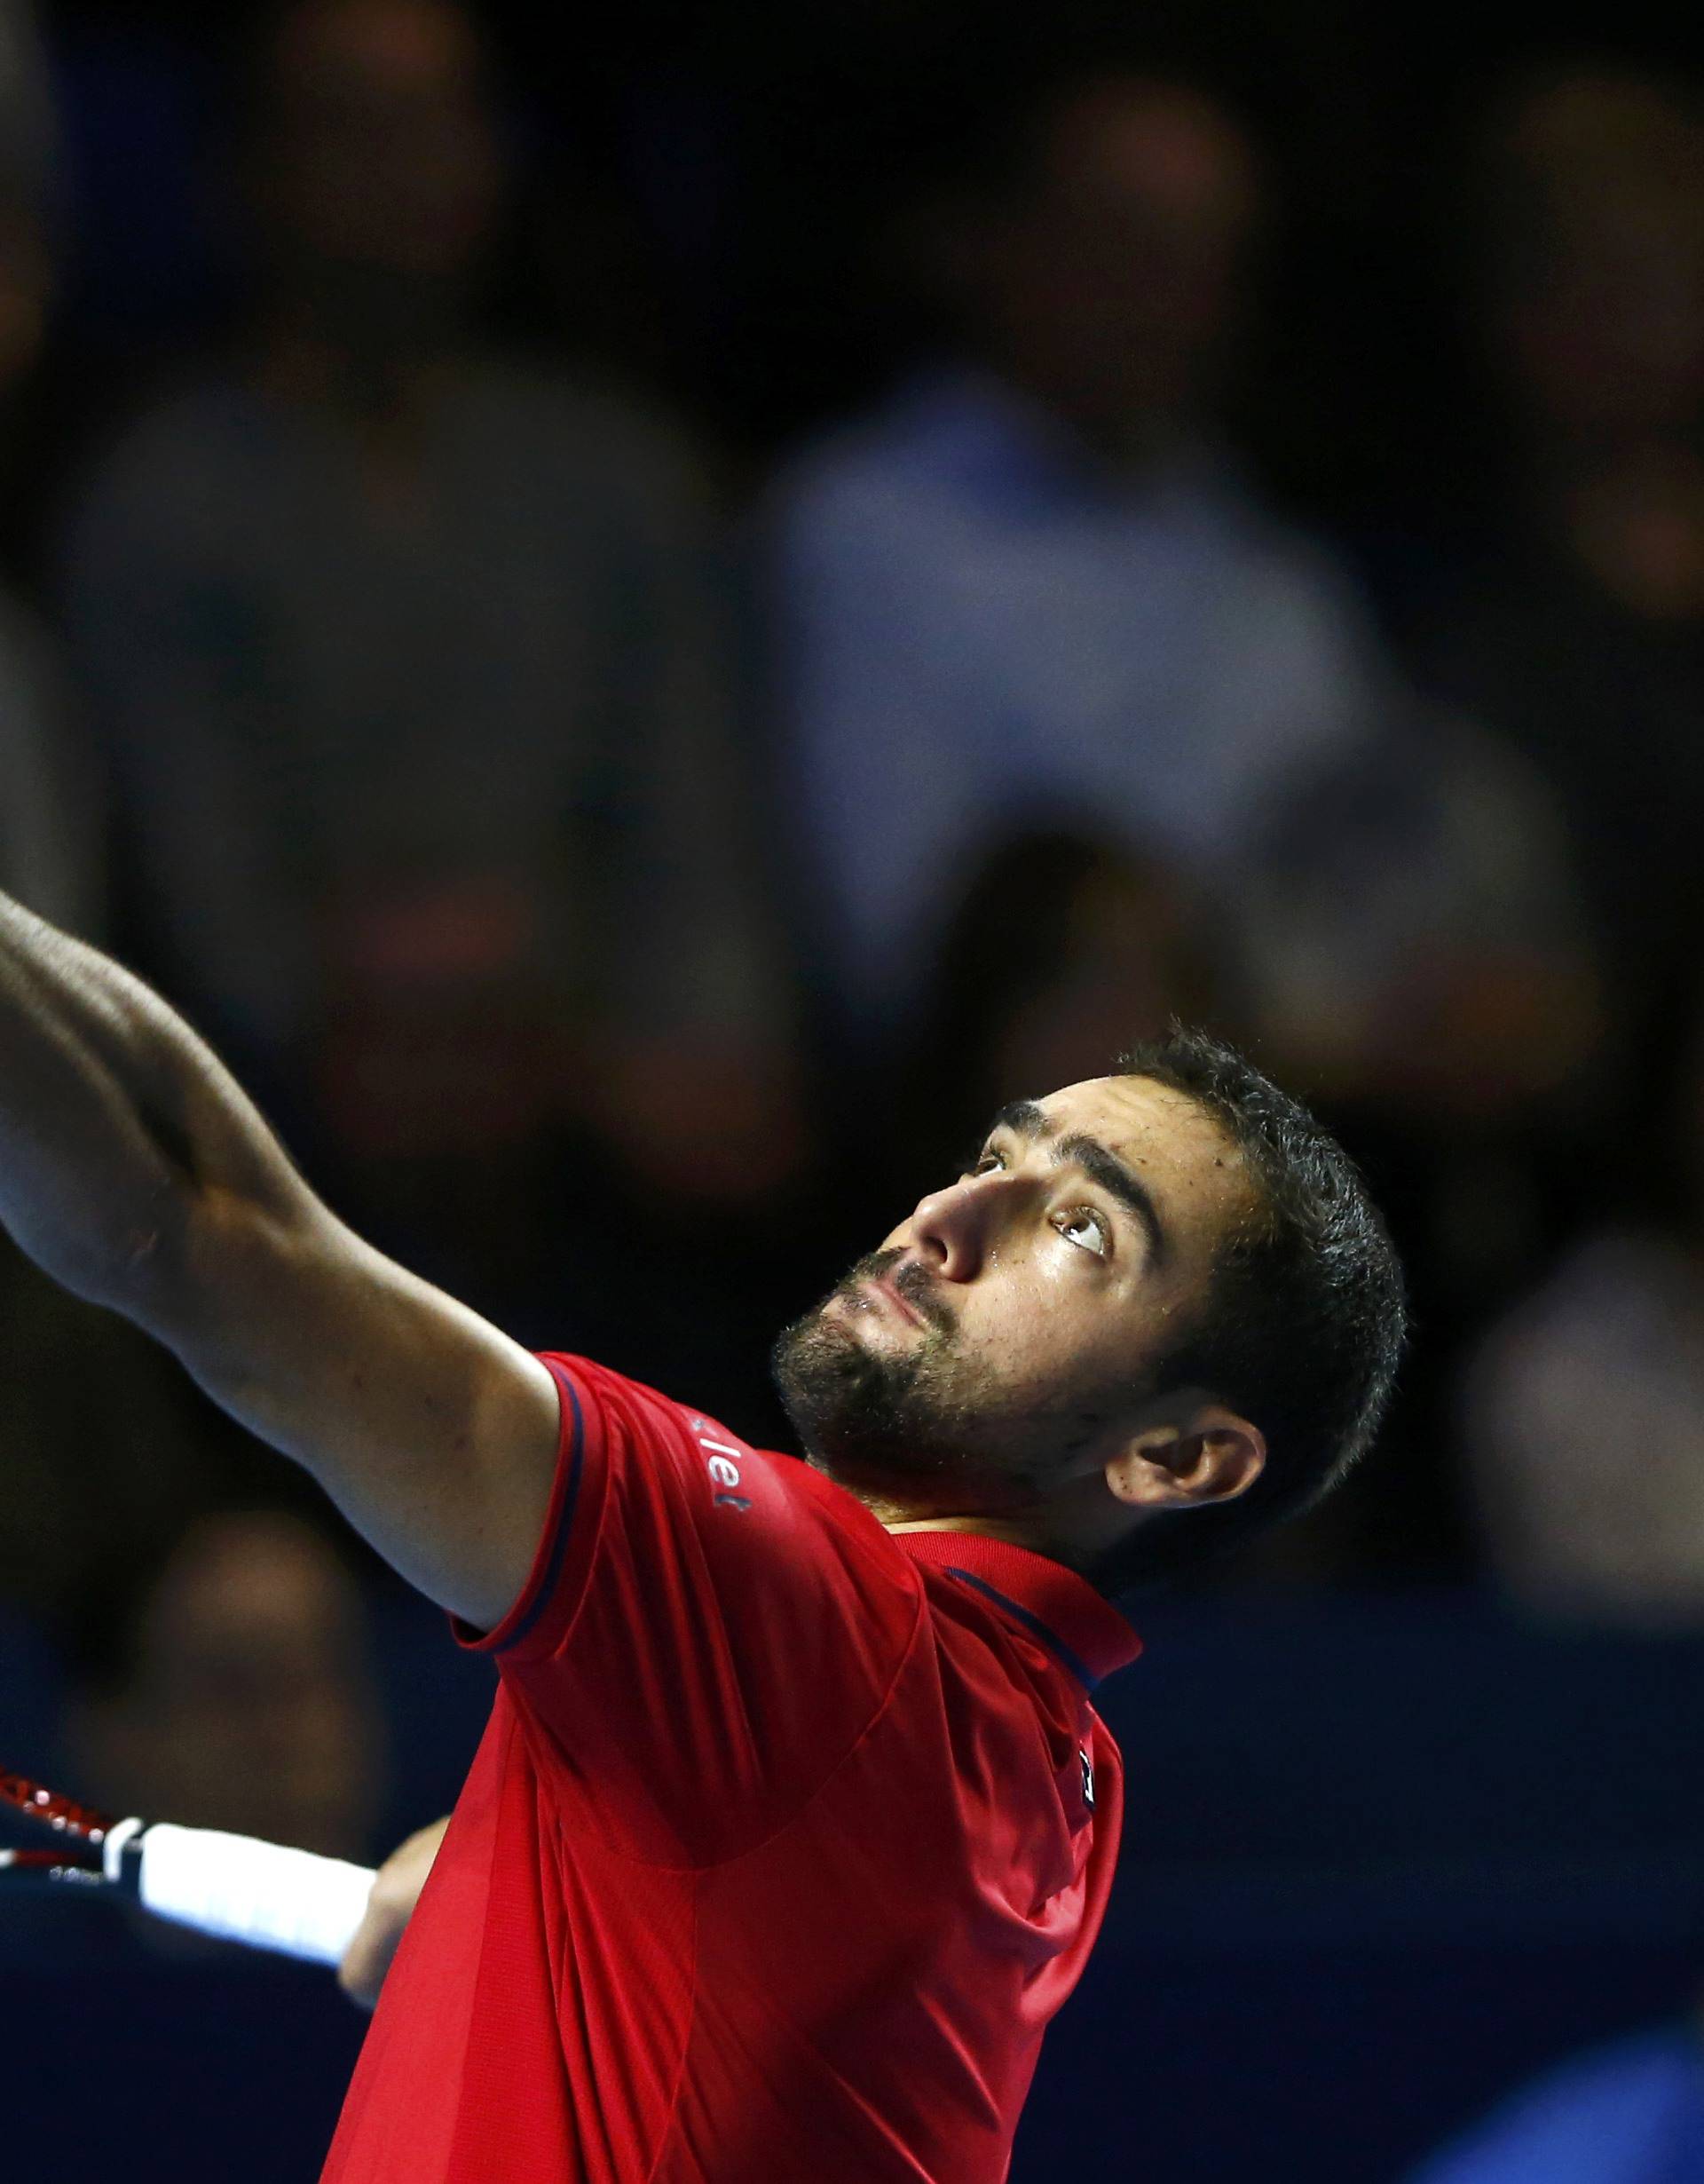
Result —
[[808, 1465], [583, 1358], [533, 1572], [489, 1651], [540, 1771], [658, 1863], [782, 1828], [880, 1714], [924, 1618], [876, 1518]]

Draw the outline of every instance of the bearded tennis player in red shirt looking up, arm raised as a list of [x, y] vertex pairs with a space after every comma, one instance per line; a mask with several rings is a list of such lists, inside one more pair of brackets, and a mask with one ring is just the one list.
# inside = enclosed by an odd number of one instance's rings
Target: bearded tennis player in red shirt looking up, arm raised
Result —
[[1112, 1880], [1114, 1603], [1339, 1476], [1403, 1330], [1339, 1149], [1184, 1035], [998, 1116], [754, 1450], [384, 1260], [4, 898], [0, 1216], [498, 1664], [336, 2184], [996, 2184]]

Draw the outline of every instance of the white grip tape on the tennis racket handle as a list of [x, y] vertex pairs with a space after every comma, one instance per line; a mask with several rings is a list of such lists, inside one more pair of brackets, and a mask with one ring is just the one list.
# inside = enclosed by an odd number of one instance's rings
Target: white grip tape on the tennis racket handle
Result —
[[201, 1933], [336, 1963], [374, 1885], [369, 1865], [155, 1821], [142, 1837], [142, 1904]]

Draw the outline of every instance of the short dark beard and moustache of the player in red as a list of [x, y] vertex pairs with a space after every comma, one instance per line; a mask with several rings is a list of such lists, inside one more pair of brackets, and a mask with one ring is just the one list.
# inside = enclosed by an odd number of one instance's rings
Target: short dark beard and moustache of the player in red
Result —
[[[898, 1265], [902, 1258], [902, 1251], [861, 1258], [824, 1304], [776, 1341], [769, 1365], [806, 1455], [863, 1500], [909, 1516], [1033, 1507], [1057, 1470], [1057, 1444], [1049, 1446], [1051, 1435], [1025, 1435], [1022, 1420], [966, 1380], [952, 1306], [926, 1267]], [[826, 1313], [835, 1297], [883, 1275], [926, 1321], [907, 1354], [865, 1348]], [[1060, 1422], [1051, 1424], [1057, 1431]], [[1014, 1452], [1018, 1446], [1022, 1455]]]

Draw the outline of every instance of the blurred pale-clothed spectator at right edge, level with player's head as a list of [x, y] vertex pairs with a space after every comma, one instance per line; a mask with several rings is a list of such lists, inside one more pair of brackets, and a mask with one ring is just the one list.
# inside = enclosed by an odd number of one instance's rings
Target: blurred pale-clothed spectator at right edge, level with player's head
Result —
[[1704, 1026], [1649, 1212], [1588, 1234], [1483, 1343], [1464, 1435], [1492, 1568], [1630, 1623], [1704, 1623]]

